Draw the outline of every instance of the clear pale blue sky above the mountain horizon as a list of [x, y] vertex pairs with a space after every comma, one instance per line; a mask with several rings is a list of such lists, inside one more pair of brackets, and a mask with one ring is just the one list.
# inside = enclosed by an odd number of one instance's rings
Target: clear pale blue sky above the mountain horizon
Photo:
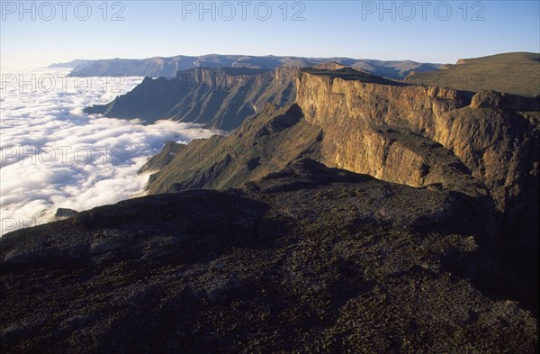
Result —
[[208, 53], [453, 63], [540, 51], [538, 0], [0, 3], [4, 68]]

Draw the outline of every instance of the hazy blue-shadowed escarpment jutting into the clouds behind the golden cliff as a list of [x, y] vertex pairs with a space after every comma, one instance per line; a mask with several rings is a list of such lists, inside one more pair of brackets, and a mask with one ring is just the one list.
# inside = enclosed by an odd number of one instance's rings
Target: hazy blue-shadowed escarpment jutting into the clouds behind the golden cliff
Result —
[[147, 123], [171, 119], [232, 130], [267, 103], [286, 105], [295, 97], [294, 68], [191, 68], [170, 79], [146, 77], [126, 95], [85, 113], [139, 118]]

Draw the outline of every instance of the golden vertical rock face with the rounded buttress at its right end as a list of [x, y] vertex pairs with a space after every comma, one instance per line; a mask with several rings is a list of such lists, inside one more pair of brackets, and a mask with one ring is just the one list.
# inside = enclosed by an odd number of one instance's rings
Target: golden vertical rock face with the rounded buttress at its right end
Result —
[[[321, 155], [330, 167], [410, 186], [440, 183], [453, 189], [455, 172], [469, 170], [488, 188], [500, 228], [514, 246], [537, 245], [537, 96], [374, 84], [338, 72], [304, 71], [297, 87], [306, 121], [324, 132]], [[455, 160], [432, 159], [437, 149]], [[467, 184], [457, 189], [470, 190]]]

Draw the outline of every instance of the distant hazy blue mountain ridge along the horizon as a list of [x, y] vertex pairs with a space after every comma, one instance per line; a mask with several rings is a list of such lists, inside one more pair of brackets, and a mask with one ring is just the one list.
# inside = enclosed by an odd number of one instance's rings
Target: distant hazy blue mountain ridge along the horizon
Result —
[[69, 74], [72, 77], [80, 76], [136, 76], [136, 77], [175, 77], [179, 70], [190, 68], [266, 68], [272, 69], [281, 66], [304, 68], [334, 61], [341, 65], [358, 68], [374, 75], [392, 78], [404, 78], [411, 72], [427, 72], [443, 68], [443, 64], [419, 63], [413, 60], [375, 60], [336, 58], [303, 58], [303, 57], [277, 57], [273, 55], [258, 57], [249, 55], [218, 55], [202, 56], [178, 55], [170, 58], [148, 59], [99, 59], [74, 60], [70, 63], [54, 64], [56, 68], [76, 62], [76, 67]]

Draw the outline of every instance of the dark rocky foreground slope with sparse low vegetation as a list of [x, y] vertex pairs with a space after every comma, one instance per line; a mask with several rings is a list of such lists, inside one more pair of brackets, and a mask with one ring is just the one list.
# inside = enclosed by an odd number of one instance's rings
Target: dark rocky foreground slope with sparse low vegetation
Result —
[[533, 352], [489, 198], [300, 159], [0, 241], [3, 352]]

